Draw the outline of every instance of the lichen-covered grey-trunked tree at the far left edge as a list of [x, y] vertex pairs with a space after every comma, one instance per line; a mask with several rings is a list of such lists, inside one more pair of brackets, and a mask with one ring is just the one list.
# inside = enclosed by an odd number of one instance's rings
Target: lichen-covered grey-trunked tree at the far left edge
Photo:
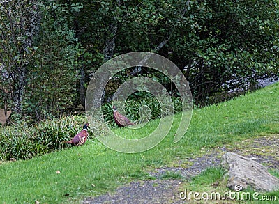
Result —
[[22, 115], [22, 101], [27, 83], [27, 67], [33, 55], [32, 39], [38, 31], [36, 1], [0, 3], [0, 60], [2, 78], [13, 101], [12, 111]]

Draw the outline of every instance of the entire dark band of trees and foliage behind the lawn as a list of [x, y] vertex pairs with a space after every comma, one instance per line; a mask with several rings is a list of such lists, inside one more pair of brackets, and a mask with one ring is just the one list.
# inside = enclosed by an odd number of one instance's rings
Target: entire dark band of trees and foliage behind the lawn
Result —
[[[278, 0], [2, 0], [0, 108], [12, 111], [11, 121], [80, 113], [100, 65], [136, 51], [174, 62], [196, 105], [220, 102], [278, 77], [278, 19]], [[103, 102], [139, 76], [179, 97], [163, 74], [131, 68], [107, 85]]]

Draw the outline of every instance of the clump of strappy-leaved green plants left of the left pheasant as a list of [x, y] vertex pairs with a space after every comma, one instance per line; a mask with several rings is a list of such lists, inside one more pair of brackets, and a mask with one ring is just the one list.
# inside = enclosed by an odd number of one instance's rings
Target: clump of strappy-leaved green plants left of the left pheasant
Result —
[[66, 148], [68, 141], [82, 130], [85, 118], [80, 116], [45, 120], [31, 127], [14, 125], [0, 128], [0, 160], [30, 159]]

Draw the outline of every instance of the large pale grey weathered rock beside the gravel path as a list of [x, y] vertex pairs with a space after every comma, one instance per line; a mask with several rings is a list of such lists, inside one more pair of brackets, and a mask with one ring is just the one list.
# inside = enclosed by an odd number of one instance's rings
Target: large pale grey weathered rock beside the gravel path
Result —
[[236, 191], [252, 187], [257, 191], [276, 191], [279, 179], [271, 175], [265, 166], [252, 159], [227, 152], [223, 155], [223, 167], [227, 168], [227, 187]]

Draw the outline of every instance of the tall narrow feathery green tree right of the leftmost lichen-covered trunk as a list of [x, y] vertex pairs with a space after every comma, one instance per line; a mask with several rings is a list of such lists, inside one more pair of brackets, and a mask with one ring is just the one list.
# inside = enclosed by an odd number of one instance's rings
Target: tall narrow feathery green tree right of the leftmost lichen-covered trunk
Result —
[[[77, 97], [77, 53], [75, 31], [67, 26], [61, 4], [40, 6], [40, 35], [29, 71], [26, 112], [37, 120], [61, 116], [73, 109]], [[57, 18], [59, 16], [59, 18]]]

